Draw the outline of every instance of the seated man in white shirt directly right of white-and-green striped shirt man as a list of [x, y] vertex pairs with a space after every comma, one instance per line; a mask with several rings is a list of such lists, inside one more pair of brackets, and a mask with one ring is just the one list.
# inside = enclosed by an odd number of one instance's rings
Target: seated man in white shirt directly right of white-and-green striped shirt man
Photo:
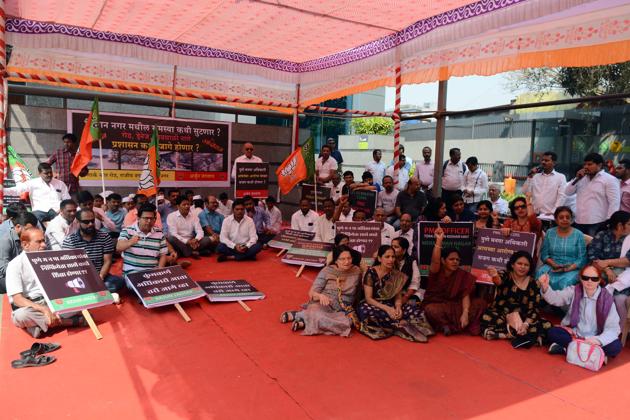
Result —
[[166, 218], [168, 242], [182, 257], [199, 258], [210, 255], [212, 240], [204, 236], [199, 218], [190, 211], [190, 201], [185, 195], [177, 197], [177, 211]]

